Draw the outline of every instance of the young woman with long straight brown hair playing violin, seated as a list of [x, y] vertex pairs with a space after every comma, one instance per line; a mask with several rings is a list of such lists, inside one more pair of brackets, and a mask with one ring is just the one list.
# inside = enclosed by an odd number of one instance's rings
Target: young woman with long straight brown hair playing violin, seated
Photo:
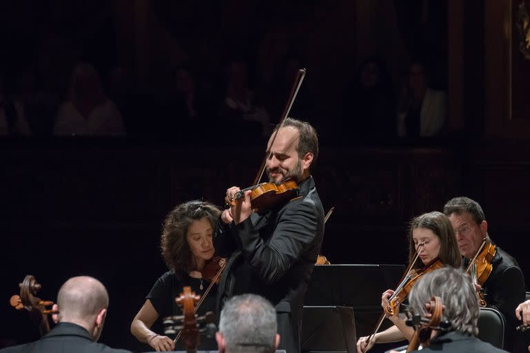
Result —
[[[416, 253], [419, 254], [420, 261], [414, 261]], [[442, 265], [460, 268], [462, 258], [458, 252], [458, 247], [453, 234], [453, 228], [449, 219], [441, 212], [429, 212], [415, 217], [411, 221], [409, 229], [409, 263], [413, 263], [411, 270], [421, 270], [433, 265], [437, 260]], [[393, 290], [386, 290], [382, 294], [382, 307], [385, 309], [389, 305], [389, 298], [394, 293]], [[400, 318], [399, 305], [392, 315], [387, 317], [394, 324], [383, 332], [377, 332], [366, 346], [368, 337], [361, 337], [357, 341], [357, 352], [366, 352], [374, 343], [390, 343], [410, 340], [414, 330], [405, 324]]]

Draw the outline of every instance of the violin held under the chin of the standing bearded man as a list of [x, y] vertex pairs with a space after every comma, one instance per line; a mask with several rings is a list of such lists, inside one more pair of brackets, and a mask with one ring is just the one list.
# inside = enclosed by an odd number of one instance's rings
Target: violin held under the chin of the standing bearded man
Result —
[[233, 197], [226, 196], [226, 203], [235, 206], [237, 200], [241, 199], [245, 192], [252, 190], [251, 205], [253, 210], [270, 210], [275, 205], [286, 203], [300, 196], [300, 189], [296, 181], [286, 179], [279, 185], [275, 183], [260, 183], [249, 188], [239, 190]]

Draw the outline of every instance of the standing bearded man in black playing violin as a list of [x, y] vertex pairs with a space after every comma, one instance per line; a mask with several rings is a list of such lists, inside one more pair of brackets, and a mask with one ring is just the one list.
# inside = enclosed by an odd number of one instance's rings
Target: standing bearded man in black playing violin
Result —
[[[218, 306], [236, 294], [264, 296], [277, 312], [279, 349], [298, 353], [304, 295], [324, 236], [324, 209], [310, 173], [318, 156], [317, 133], [308, 123], [288, 118], [273, 132], [266, 154], [269, 182], [279, 185], [291, 178], [300, 196], [257, 214], [247, 191], [222, 212], [213, 243], [230, 259], [219, 283]], [[226, 196], [232, 199], [238, 191], [229, 188]]]

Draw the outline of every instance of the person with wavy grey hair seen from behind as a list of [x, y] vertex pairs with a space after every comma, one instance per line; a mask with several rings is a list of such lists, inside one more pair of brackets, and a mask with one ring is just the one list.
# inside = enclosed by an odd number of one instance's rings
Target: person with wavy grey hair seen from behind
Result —
[[446, 332], [433, 330], [429, 347], [424, 347], [420, 352], [506, 352], [475, 337], [478, 334], [477, 295], [471, 278], [462, 270], [446, 267], [425, 274], [412, 288], [409, 310], [413, 314], [425, 316], [426, 303], [430, 303], [433, 296], [442, 299], [440, 321], [449, 321], [450, 326]]

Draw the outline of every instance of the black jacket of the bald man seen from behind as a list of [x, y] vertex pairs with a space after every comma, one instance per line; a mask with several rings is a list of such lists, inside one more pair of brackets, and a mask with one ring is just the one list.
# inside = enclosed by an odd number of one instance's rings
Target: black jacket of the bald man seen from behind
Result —
[[115, 350], [103, 343], [94, 342], [83, 327], [75, 323], [58, 323], [39, 341], [7, 347], [1, 353], [130, 353], [128, 350]]

